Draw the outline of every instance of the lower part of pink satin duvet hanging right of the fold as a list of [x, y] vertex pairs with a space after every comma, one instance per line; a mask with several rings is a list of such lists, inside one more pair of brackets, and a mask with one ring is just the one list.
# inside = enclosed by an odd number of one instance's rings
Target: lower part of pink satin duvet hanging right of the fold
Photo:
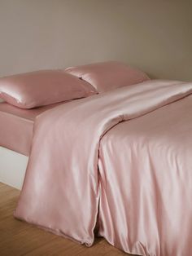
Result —
[[192, 95], [101, 140], [99, 235], [132, 254], [190, 255]]

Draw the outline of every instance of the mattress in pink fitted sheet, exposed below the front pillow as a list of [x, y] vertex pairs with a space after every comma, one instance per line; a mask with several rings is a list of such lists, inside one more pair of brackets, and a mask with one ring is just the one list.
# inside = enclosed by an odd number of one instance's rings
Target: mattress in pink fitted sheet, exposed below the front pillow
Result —
[[0, 146], [29, 156], [35, 118], [59, 104], [33, 109], [22, 109], [0, 103]]

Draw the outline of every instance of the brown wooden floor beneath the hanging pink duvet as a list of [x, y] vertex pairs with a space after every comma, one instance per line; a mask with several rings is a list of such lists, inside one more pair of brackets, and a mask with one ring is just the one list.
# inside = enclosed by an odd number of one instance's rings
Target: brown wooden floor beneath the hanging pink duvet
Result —
[[94, 246], [86, 248], [68, 239], [42, 231], [13, 217], [20, 191], [0, 183], [0, 255], [1, 256], [70, 256], [70, 255], [129, 255], [96, 239]]

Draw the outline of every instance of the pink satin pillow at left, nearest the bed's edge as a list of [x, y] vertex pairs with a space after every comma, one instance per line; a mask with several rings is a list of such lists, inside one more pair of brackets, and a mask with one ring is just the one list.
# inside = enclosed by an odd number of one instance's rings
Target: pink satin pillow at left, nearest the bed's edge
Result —
[[35, 108], [96, 93], [89, 83], [63, 70], [40, 70], [0, 78], [0, 98], [20, 108]]

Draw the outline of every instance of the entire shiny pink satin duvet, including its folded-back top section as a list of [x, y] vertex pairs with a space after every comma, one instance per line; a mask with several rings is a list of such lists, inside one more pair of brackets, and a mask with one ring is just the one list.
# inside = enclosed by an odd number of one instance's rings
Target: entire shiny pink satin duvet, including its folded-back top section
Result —
[[15, 217], [88, 246], [98, 219], [126, 252], [190, 255], [190, 94], [192, 83], [143, 82], [37, 117]]

